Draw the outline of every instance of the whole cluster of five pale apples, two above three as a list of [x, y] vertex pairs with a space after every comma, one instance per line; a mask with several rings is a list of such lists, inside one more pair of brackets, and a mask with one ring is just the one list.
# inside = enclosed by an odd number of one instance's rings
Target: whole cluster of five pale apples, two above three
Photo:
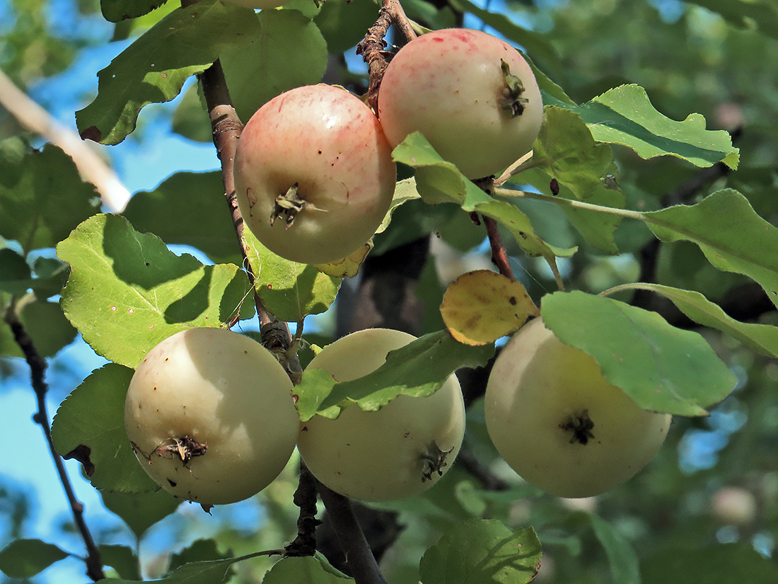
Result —
[[[468, 178], [503, 171], [532, 148], [543, 117], [538, 85], [509, 44], [475, 30], [426, 33], [391, 60], [378, 112], [327, 85], [282, 93], [244, 128], [234, 161], [247, 227], [286, 259], [323, 264], [366, 244], [391, 204], [391, 150], [415, 131]], [[324, 347], [308, 368], [363, 377], [414, 339], [368, 329]], [[670, 417], [640, 409], [592, 357], [541, 320], [499, 355], [485, 396], [489, 435], [524, 479], [551, 494], [608, 491], [657, 452]], [[203, 505], [240, 501], [275, 480], [295, 447], [333, 491], [363, 501], [419, 494], [443, 476], [464, 437], [451, 375], [427, 397], [336, 419], [300, 422], [275, 357], [227, 329], [187, 329], [159, 343], [128, 389], [125, 427], [157, 484]]]

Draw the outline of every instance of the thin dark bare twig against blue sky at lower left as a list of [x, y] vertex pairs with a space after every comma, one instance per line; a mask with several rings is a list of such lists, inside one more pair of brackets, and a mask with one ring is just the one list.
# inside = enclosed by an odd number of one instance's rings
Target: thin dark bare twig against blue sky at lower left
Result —
[[75, 526], [79, 529], [84, 545], [86, 546], [86, 575], [89, 576], [93, 582], [105, 579], [103, 573], [103, 561], [100, 559], [100, 552], [97, 551], [97, 547], [93, 540], [92, 534], [89, 533], [89, 527], [86, 526], [84, 521], [84, 505], [75, 498], [75, 492], [73, 491], [72, 484], [68, 478], [68, 473], [65, 470], [65, 464], [62, 462], [61, 456], [54, 448], [54, 441], [51, 439], [51, 424], [49, 424], [48, 412], [46, 407], [46, 394], [48, 392], [48, 385], [46, 383], [46, 360], [40, 357], [37, 349], [33, 343], [33, 339], [27, 334], [26, 329], [19, 317], [16, 314], [16, 303], [12, 302], [5, 310], [4, 315], [5, 322], [11, 327], [13, 333], [13, 339], [22, 350], [24, 358], [27, 364], [30, 366], [30, 381], [37, 398], [38, 411], [33, 416], [33, 420], [40, 424], [43, 428], [46, 442], [51, 452], [51, 458], [54, 459], [54, 466], [57, 467], [57, 473], [59, 480], [62, 483], [62, 487], [65, 488], [65, 496], [68, 498], [68, 503], [73, 514], [73, 520]]

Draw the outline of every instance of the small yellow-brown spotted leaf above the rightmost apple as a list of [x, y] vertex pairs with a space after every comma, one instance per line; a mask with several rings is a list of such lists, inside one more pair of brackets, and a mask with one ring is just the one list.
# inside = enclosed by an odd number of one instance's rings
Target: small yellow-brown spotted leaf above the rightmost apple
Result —
[[488, 269], [462, 274], [440, 304], [443, 322], [460, 343], [485, 345], [519, 329], [538, 307], [520, 282]]

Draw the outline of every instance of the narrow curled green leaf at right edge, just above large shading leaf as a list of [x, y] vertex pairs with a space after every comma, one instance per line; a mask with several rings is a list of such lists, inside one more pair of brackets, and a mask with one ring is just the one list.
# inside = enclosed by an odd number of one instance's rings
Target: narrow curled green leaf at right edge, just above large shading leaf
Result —
[[619, 290], [626, 289], [651, 290], [661, 294], [694, 322], [726, 332], [746, 347], [751, 347], [768, 357], [778, 358], [778, 327], [776, 326], [737, 321], [727, 316], [718, 304], [714, 304], [703, 294], [693, 290], [643, 282], [619, 287]]

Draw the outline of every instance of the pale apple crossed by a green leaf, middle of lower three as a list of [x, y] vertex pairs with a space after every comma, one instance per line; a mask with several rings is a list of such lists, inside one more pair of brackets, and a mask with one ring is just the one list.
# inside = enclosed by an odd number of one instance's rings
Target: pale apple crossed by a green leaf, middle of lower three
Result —
[[[391, 329], [352, 332], [324, 347], [306, 370], [323, 369], [338, 382], [351, 381], [414, 339]], [[297, 449], [314, 477], [332, 491], [360, 501], [392, 501], [440, 480], [463, 437], [464, 402], [451, 375], [431, 396], [398, 396], [372, 412], [352, 403], [335, 420], [316, 415], [303, 422]]]

